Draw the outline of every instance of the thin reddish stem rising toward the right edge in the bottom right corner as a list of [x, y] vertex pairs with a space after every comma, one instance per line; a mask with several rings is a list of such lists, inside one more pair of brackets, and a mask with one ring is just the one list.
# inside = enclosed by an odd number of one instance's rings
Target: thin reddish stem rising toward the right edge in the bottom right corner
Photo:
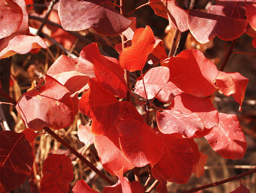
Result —
[[213, 187], [213, 186], [218, 186], [220, 184], [224, 184], [226, 182], [230, 182], [232, 180], [236, 180], [238, 178], [241, 178], [241, 177], [244, 177], [244, 176], [247, 176], [247, 175], [250, 175], [250, 174], [253, 174], [253, 173], [256, 173], [256, 168], [255, 169], [252, 169], [248, 172], [245, 172], [245, 173], [242, 173], [240, 175], [237, 175], [237, 176], [233, 176], [231, 178], [228, 178], [228, 179], [225, 179], [225, 180], [221, 180], [221, 181], [218, 181], [218, 182], [214, 182], [214, 183], [211, 183], [211, 184], [207, 184], [207, 185], [204, 185], [204, 186], [200, 186], [200, 187], [197, 187], [197, 188], [193, 188], [191, 190], [185, 190], [183, 192], [180, 192], [180, 193], [190, 193], [190, 192], [197, 192], [199, 190], [204, 190], [206, 188], [210, 188], [210, 187]]

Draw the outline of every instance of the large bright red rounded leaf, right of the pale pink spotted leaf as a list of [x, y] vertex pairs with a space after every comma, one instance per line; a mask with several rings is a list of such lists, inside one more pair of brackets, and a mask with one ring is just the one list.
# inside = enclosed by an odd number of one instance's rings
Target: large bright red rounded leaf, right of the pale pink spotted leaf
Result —
[[206, 97], [217, 90], [213, 81], [218, 76], [218, 69], [199, 50], [187, 49], [170, 57], [168, 66], [169, 81], [187, 94]]

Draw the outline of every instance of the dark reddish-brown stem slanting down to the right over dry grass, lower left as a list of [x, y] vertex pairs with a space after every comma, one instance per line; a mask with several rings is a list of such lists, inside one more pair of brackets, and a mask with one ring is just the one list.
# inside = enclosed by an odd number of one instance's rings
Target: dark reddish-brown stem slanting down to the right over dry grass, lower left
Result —
[[108, 184], [111, 186], [114, 185], [114, 182], [110, 180], [104, 173], [102, 173], [99, 169], [97, 169], [90, 161], [88, 161], [84, 156], [82, 156], [77, 150], [72, 148], [67, 142], [65, 142], [62, 138], [60, 138], [55, 132], [53, 132], [48, 126], [44, 126], [43, 128], [45, 131], [47, 131], [51, 136], [53, 136], [56, 140], [58, 140], [63, 146], [65, 146], [67, 149], [70, 149], [70, 151], [77, 156], [82, 162], [84, 162], [92, 171], [94, 171], [96, 174], [98, 174], [102, 179], [104, 179]]

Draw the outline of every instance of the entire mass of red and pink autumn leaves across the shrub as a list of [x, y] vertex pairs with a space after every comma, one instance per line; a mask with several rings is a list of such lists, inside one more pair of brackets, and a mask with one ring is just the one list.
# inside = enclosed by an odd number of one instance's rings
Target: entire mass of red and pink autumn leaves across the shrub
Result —
[[[183, 9], [174, 0], [150, 0], [147, 4], [156, 15], [168, 19], [170, 27], [179, 32], [190, 30], [200, 43], [215, 36], [235, 40], [248, 28], [256, 30], [255, 1], [251, 0], [218, 0], [207, 13]], [[24, 0], [0, 0], [0, 5], [0, 58], [47, 48], [42, 38], [29, 34]], [[59, 56], [37, 86], [16, 101], [27, 130], [0, 132], [1, 193], [20, 186], [32, 169], [34, 153], [29, 142], [37, 135], [32, 130], [68, 127], [79, 111], [92, 120], [90, 126], [79, 126], [79, 139], [94, 143], [104, 169], [118, 177], [115, 184], [104, 187], [103, 193], [145, 192], [141, 183], [130, 182], [123, 173], [146, 165], [152, 177], [160, 181], [156, 186], [160, 193], [167, 193], [167, 181], [185, 184], [191, 173], [202, 176], [208, 156], [199, 152], [193, 138], [205, 137], [224, 158], [243, 157], [247, 143], [238, 118], [218, 112], [210, 96], [218, 90], [227, 97], [232, 95], [241, 111], [247, 78], [238, 72], [219, 71], [197, 49], [168, 57], [162, 40], [154, 37], [150, 26], [136, 28], [136, 18], [118, 12], [111, 1], [60, 0], [58, 15], [64, 30], [92, 28], [102, 36], [123, 34], [131, 42], [125, 48], [116, 47], [119, 59], [102, 55], [95, 42], [85, 46], [77, 58]], [[143, 74], [146, 62], [160, 65]], [[127, 85], [126, 71], [141, 73], [134, 92], [146, 102], [134, 100], [145, 110], [144, 117], [127, 100], [127, 95], [134, 94]], [[156, 99], [170, 103], [168, 108], [154, 105]], [[157, 109], [156, 128], [147, 122], [152, 106]], [[42, 172], [40, 193], [69, 192], [74, 175], [65, 153], [45, 159]], [[240, 189], [249, 192], [242, 184], [233, 192]], [[73, 192], [97, 191], [79, 180]]]

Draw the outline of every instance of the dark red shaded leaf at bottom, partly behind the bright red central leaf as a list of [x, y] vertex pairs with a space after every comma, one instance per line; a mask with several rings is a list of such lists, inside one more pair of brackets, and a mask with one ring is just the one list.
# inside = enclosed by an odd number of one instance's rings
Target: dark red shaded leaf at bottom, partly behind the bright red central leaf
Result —
[[164, 137], [164, 155], [152, 167], [169, 182], [185, 184], [189, 180], [194, 165], [194, 153], [186, 139], [159, 133]]

